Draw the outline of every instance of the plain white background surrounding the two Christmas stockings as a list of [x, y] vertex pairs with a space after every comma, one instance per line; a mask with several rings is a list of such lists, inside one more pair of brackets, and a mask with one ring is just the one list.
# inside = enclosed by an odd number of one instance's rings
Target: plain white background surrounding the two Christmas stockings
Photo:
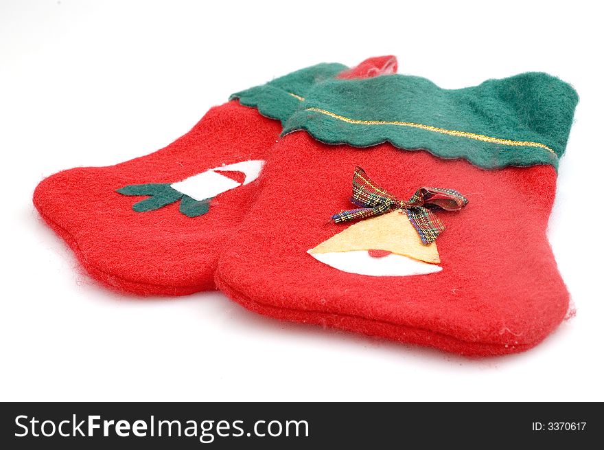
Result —
[[[0, 400], [603, 401], [603, 35], [590, 4], [1, 1]], [[232, 92], [380, 54], [441, 87], [535, 70], [579, 92], [548, 231], [577, 317], [537, 348], [465, 359], [277, 322], [220, 293], [119, 295], [32, 206], [43, 177], [146, 155]]]

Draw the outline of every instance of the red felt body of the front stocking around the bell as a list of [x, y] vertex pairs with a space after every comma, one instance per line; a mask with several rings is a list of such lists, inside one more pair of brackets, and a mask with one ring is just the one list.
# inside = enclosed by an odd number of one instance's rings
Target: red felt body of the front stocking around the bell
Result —
[[[306, 253], [349, 226], [329, 218], [351, 207], [356, 166], [400, 198], [425, 185], [467, 196], [460, 212], [437, 212], [441, 272], [356, 275]], [[299, 131], [273, 148], [261, 182], [216, 271], [217, 286], [252, 311], [463, 355], [526, 350], [566, 315], [546, 238], [550, 166], [484, 170], [390, 144], [329, 146]]]

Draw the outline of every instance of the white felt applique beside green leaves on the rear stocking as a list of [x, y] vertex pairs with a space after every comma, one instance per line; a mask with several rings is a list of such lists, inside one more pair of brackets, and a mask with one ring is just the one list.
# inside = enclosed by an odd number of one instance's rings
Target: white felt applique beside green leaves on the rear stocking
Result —
[[[172, 183], [170, 186], [195, 200], [211, 199], [218, 194], [222, 194], [222, 192], [227, 192], [227, 190], [251, 183], [258, 178], [263, 165], [264, 161], [259, 159], [241, 161], [235, 164], [208, 169], [198, 175], [193, 175], [183, 181], [178, 181], [178, 183]], [[245, 180], [243, 183], [239, 183], [229, 177], [220, 175], [220, 173], [215, 172], [215, 170], [222, 170], [224, 172], [242, 172], [245, 175]]]

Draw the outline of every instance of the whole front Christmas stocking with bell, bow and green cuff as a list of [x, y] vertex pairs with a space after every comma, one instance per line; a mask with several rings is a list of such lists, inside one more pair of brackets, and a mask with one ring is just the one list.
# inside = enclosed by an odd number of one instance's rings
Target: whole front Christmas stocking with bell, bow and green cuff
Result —
[[576, 104], [539, 73], [317, 86], [217, 286], [264, 315], [463, 355], [535, 346], [568, 310], [546, 225]]

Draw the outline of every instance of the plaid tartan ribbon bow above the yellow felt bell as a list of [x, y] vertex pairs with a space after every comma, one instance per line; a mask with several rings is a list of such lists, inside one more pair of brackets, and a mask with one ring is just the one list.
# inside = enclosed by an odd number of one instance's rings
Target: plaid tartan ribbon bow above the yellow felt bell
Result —
[[423, 245], [433, 243], [445, 229], [445, 225], [428, 207], [438, 206], [445, 211], [458, 211], [467, 205], [465, 196], [456, 190], [441, 188], [419, 188], [408, 201], [399, 200], [375, 184], [360, 167], [354, 171], [350, 201], [360, 208], [334, 214], [332, 219], [335, 223], [380, 216], [402, 209], [405, 210]]

